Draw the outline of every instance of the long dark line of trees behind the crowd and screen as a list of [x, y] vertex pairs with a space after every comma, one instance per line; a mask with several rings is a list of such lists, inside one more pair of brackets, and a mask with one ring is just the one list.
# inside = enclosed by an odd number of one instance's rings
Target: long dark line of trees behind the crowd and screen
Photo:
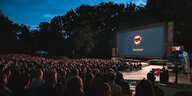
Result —
[[148, 0], [147, 5], [81, 5], [37, 30], [18, 25], [0, 13], [0, 53], [28, 53], [46, 50], [68, 57], [110, 57], [116, 32], [159, 22], [175, 22], [174, 45], [192, 52], [192, 2], [190, 0]]

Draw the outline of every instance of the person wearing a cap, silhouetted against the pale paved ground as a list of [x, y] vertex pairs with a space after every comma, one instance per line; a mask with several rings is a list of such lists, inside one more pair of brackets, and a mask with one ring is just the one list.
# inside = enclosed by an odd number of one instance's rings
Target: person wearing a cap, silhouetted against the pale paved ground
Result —
[[164, 91], [160, 89], [156, 84], [155, 84], [155, 75], [152, 72], [149, 72], [147, 74], [147, 79], [151, 81], [153, 89], [155, 91], [155, 96], [164, 96]]

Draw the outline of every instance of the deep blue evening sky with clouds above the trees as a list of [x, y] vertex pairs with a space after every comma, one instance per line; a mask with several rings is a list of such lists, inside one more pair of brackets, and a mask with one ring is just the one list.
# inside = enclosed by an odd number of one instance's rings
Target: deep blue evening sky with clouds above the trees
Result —
[[65, 15], [81, 4], [97, 5], [101, 2], [145, 5], [147, 0], [0, 0], [0, 10], [14, 23], [35, 29], [40, 22], [50, 22], [57, 15]]

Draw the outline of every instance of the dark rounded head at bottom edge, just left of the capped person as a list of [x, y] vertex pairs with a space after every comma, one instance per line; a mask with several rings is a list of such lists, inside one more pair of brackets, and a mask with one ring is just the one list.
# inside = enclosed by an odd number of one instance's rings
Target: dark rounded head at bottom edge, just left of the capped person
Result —
[[139, 81], [139, 83], [136, 85], [135, 90], [135, 96], [155, 96], [152, 83], [149, 80], [143, 79]]

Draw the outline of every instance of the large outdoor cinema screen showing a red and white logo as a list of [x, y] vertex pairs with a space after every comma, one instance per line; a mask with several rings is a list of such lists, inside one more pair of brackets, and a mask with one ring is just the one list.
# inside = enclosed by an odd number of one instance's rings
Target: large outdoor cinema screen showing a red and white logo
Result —
[[134, 58], [162, 58], [167, 50], [166, 30], [165, 24], [157, 24], [118, 32], [118, 55]]

